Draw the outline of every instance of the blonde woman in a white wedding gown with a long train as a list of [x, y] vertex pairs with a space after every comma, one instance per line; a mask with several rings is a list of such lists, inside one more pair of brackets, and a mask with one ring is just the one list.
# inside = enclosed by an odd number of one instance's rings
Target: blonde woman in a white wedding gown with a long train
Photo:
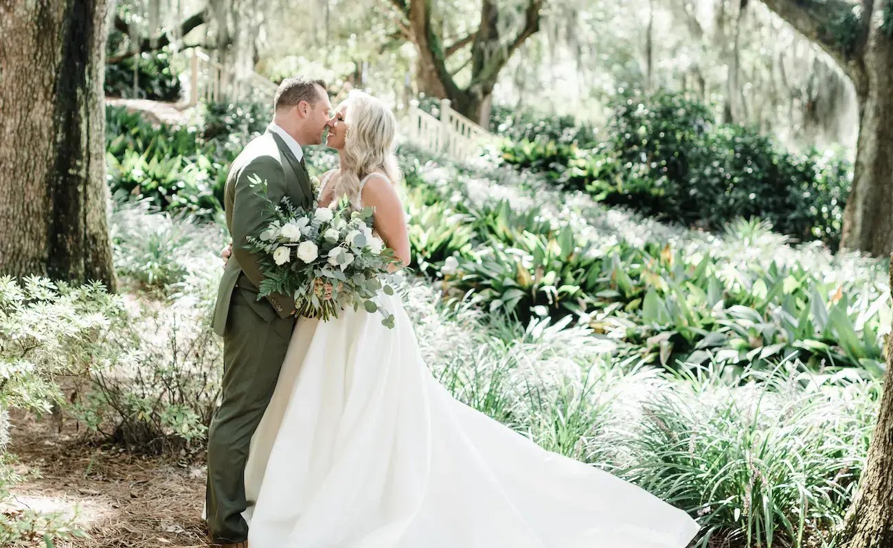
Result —
[[[320, 200], [374, 207], [408, 263], [395, 133], [384, 104], [352, 92]], [[362, 308], [298, 320], [246, 465], [252, 548], [684, 548], [697, 534], [684, 511], [453, 399], [400, 297], [381, 299], [394, 328]]]

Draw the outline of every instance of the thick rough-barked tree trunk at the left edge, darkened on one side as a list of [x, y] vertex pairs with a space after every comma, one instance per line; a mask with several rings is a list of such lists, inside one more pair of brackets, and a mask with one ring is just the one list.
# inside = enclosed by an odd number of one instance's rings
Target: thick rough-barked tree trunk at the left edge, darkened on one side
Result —
[[106, 0], [0, 0], [0, 274], [115, 288]]

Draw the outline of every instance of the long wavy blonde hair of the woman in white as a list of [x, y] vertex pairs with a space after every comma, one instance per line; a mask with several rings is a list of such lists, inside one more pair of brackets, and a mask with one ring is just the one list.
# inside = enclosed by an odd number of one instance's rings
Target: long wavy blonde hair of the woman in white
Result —
[[396, 119], [387, 105], [356, 89], [347, 94], [338, 109], [345, 106], [347, 132], [341, 150], [344, 169], [334, 181], [333, 191], [336, 197], [346, 195], [351, 203], [357, 203], [360, 181], [370, 173], [382, 172], [392, 184], [400, 180], [394, 154]]

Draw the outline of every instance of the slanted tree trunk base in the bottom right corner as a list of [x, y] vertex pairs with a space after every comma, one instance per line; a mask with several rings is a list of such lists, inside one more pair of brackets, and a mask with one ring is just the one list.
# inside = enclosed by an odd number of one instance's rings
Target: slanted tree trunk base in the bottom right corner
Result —
[[[893, 283], [893, 264], [890, 282]], [[893, 546], [893, 345], [889, 343], [883, 386], [868, 462], [840, 536], [846, 543], [844, 548]]]

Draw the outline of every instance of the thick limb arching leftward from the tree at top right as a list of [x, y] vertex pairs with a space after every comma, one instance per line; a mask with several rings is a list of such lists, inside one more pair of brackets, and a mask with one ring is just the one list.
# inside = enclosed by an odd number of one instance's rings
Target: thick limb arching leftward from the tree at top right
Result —
[[847, 69], [849, 52], [846, 51], [846, 47], [839, 38], [834, 36], [833, 27], [839, 27], [839, 21], [853, 11], [854, 4], [849, 4], [844, 0], [762, 1], [767, 8], [787, 21], [800, 34], [821, 47], [825, 53], [839, 63], [842, 69]]

